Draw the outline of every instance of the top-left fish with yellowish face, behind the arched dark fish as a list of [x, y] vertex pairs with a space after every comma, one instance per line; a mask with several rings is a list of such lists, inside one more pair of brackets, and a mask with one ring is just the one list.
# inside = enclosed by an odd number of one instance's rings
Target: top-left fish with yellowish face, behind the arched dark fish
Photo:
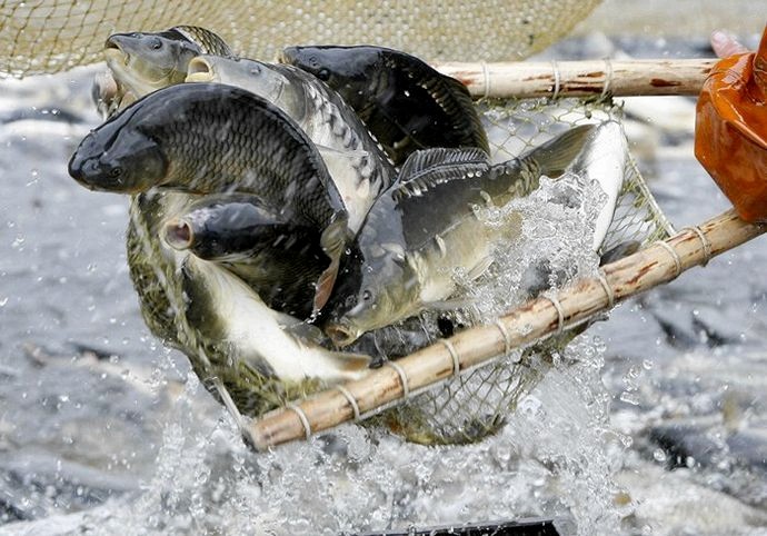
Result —
[[103, 53], [116, 87], [108, 79], [97, 78], [93, 100], [107, 117], [147, 93], [183, 82], [189, 61], [196, 56], [233, 56], [219, 36], [192, 26], [113, 33], [107, 38]]

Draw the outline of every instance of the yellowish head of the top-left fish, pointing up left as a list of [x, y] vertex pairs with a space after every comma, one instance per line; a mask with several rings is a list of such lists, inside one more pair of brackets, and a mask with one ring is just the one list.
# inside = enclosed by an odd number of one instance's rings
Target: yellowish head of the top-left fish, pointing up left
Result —
[[200, 52], [176, 30], [114, 33], [104, 43], [107, 66], [123, 91], [136, 98], [182, 82], [189, 61]]

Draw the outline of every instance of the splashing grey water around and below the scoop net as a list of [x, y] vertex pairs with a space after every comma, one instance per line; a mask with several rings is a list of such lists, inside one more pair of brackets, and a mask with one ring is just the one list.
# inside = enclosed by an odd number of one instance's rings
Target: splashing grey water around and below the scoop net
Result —
[[[4, 82], [0, 101], [0, 533], [338, 534], [547, 516], [565, 534], [767, 534], [763, 239], [618, 307], [481, 444], [422, 447], [348, 425], [257, 455], [143, 326], [126, 200], [67, 176], [98, 120], [90, 76]], [[30, 112], [50, 102], [61, 111]], [[689, 132], [656, 135], [643, 167], [673, 221], [723, 211]]]

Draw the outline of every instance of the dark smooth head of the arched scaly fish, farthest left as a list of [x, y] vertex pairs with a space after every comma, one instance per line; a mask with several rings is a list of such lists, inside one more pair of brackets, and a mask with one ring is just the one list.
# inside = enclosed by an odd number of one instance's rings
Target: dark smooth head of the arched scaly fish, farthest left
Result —
[[118, 120], [122, 116], [92, 130], [69, 160], [69, 175], [89, 190], [138, 193], [167, 175], [160, 146], [139, 129], [123, 126]]

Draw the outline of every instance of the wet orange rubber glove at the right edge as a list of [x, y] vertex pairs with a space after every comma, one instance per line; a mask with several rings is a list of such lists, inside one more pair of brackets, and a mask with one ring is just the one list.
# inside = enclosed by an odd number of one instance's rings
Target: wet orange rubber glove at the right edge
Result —
[[695, 156], [746, 221], [767, 221], [767, 27], [756, 52], [714, 66], [698, 98]]

